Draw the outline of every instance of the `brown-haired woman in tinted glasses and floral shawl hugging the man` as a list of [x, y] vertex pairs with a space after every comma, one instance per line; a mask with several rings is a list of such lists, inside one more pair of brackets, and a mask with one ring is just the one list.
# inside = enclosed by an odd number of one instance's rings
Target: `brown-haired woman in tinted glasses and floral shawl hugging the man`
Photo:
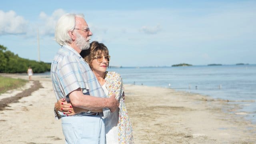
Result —
[[[89, 64], [106, 95], [109, 97], [112, 94], [116, 94], [116, 99], [120, 102], [119, 110], [112, 112], [109, 117], [105, 118], [106, 143], [132, 144], [132, 125], [124, 104], [122, 78], [116, 72], [106, 71], [110, 61], [108, 48], [102, 43], [92, 42], [90, 49], [82, 51], [80, 55]], [[64, 99], [56, 102], [55, 110], [63, 112], [66, 116], [88, 111], [82, 108], [72, 107]], [[102, 110], [94, 110], [92, 112], [102, 112]]]

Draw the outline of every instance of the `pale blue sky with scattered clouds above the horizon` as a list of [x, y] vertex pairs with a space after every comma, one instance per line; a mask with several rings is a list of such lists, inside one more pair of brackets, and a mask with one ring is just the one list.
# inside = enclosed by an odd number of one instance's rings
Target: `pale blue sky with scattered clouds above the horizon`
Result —
[[255, 0], [6, 0], [0, 44], [38, 60], [38, 30], [40, 60], [51, 62], [56, 21], [68, 12], [85, 15], [112, 66], [256, 64]]

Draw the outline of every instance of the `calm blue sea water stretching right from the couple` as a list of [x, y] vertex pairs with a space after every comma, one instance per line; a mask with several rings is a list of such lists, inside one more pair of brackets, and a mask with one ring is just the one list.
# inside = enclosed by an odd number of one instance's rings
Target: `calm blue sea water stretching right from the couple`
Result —
[[[256, 65], [109, 68], [124, 84], [158, 86], [230, 100], [256, 123]], [[236, 101], [236, 102], [234, 102]]]

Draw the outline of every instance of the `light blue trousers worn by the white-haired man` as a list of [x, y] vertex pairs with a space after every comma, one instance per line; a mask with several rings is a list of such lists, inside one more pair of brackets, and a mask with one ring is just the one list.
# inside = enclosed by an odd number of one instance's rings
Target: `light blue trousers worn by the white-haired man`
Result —
[[66, 144], [105, 144], [105, 119], [98, 116], [62, 117]]

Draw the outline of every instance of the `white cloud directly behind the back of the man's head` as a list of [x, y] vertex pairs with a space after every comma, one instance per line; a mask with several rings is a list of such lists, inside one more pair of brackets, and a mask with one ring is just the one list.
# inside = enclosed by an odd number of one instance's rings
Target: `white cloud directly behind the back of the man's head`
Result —
[[63, 14], [66, 12], [62, 9], [55, 10], [51, 16], [48, 16], [45, 12], [41, 12], [39, 15], [42, 22], [39, 24], [39, 32], [41, 35], [54, 35], [55, 26]]

